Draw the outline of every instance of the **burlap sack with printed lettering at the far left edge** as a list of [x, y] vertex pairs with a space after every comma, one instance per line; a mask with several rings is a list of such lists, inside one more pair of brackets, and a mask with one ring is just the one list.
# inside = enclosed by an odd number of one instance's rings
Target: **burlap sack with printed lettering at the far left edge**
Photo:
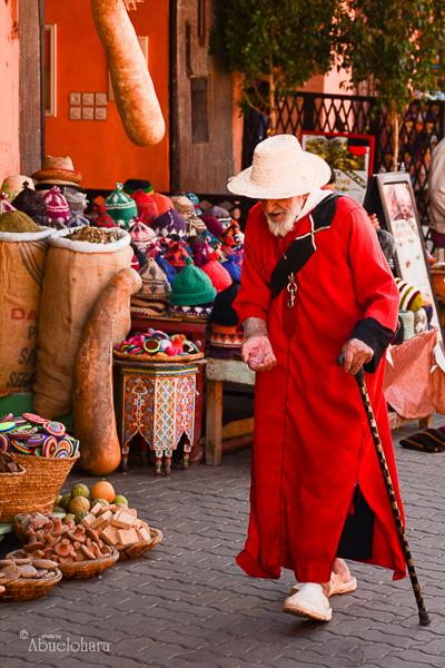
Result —
[[46, 239], [52, 233], [0, 233], [0, 396], [32, 390]]

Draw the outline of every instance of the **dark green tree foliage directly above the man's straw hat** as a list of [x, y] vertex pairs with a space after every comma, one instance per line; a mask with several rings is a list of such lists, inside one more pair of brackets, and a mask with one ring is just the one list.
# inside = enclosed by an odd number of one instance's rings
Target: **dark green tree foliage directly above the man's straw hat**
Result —
[[[244, 102], [263, 109], [333, 63], [332, 20], [337, 0], [217, 0], [210, 50], [244, 76]], [[267, 82], [266, 97], [260, 81]], [[254, 88], [251, 89], [251, 86]], [[249, 95], [255, 96], [255, 101]]]

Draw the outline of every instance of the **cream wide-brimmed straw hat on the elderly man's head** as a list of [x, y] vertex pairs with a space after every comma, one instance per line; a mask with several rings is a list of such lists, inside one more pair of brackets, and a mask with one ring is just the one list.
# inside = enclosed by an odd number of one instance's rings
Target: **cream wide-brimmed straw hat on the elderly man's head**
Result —
[[227, 188], [254, 199], [284, 199], [307, 195], [329, 178], [329, 165], [303, 150], [294, 135], [275, 135], [258, 144], [251, 167], [229, 178]]

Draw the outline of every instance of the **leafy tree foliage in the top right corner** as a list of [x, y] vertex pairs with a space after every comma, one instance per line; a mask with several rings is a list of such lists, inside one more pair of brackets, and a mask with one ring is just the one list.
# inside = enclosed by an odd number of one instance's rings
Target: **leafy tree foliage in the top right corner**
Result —
[[436, 89], [444, 71], [444, 0], [345, 0], [334, 24], [353, 85], [370, 81], [388, 109], [400, 112], [414, 94]]

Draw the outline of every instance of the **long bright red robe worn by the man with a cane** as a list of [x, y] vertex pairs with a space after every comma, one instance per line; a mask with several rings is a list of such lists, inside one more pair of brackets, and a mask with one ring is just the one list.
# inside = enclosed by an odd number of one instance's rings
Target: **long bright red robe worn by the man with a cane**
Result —
[[[273, 298], [277, 262], [309, 230], [307, 214], [286, 237], [275, 237], [260, 204], [247, 223], [235, 310], [240, 322], [267, 322], [277, 365], [256, 376], [250, 521], [237, 562], [257, 578], [279, 578], [283, 567], [300, 582], [327, 582], [358, 481], [375, 515], [367, 561], [403, 578], [405, 560], [357, 383], [337, 364], [364, 318], [395, 331], [398, 291], [366, 212], [339, 197], [332, 225], [316, 233], [317, 249], [297, 274], [295, 306], [287, 306], [286, 289]], [[365, 379], [403, 513], [384, 365]]]

